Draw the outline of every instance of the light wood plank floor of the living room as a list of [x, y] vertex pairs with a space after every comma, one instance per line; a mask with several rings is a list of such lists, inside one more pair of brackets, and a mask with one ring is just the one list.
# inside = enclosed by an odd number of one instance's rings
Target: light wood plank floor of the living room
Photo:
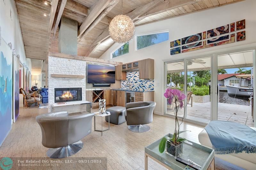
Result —
[[[96, 110], [95, 110], [96, 111]], [[20, 117], [12, 125], [9, 135], [0, 147], [0, 157], [46, 157], [45, 148], [41, 144], [42, 134], [36, 122], [36, 116], [47, 113], [47, 108], [20, 108]], [[174, 130], [174, 119], [154, 115], [154, 120], [149, 126], [151, 130], [145, 133], [135, 133], [128, 130], [126, 123], [120, 125], [110, 124], [110, 130], [94, 132], [82, 139], [83, 149], [73, 157], [107, 157], [108, 169], [144, 169], [144, 147]], [[96, 128], [100, 128], [101, 118], [96, 117]], [[103, 129], [108, 127], [103, 122]], [[183, 122], [181, 130], [191, 130], [181, 136], [188, 140], [198, 142], [198, 134], [203, 127]], [[94, 123], [92, 122], [92, 129]], [[148, 161], [149, 169], [165, 170], [163, 166]], [[66, 169], [66, 168], [62, 168]]]

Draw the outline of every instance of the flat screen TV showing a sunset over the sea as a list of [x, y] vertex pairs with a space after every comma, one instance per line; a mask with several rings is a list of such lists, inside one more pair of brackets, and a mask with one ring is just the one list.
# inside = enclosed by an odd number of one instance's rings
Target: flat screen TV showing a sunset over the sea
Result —
[[111, 84], [115, 83], [116, 67], [105, 65], [87, 65], [87, 83]]

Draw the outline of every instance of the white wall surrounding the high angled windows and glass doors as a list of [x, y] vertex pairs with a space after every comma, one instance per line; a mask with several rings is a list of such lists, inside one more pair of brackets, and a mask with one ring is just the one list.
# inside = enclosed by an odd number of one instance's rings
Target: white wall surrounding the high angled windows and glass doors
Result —
[[[155, 31], [169, 30], [169, 41], [162, 42], [135, 51], [134, 39], [129, 44], [129, 54], [116, 57], [111, 61], [129, 63], [139, 59], [152, 58], [155, 60], [155, 113], [163, 114], [163, 93], [164, 93], [164, 61], [223, 52], [226, 50], [237, 50], [256, 46], [256, 1], [245, 0], [234, 4], [223, 5], [213, 9], [200, 11], [176, 18], [170, 18], [147, 25], [137, 26], [135, 34], [149, 33]], [[170, 55], [170, 41], [174, 41], [186, 36], [200, 33], [212, 28], [230, 24], [242, 19], [246, 19], [246, 40], [230, 43], [226, 45], [205, 48], [187, 53]], [[110, 47], [101, 59], [110, 60], [110, 53], [120, 44], [116, 43]]]

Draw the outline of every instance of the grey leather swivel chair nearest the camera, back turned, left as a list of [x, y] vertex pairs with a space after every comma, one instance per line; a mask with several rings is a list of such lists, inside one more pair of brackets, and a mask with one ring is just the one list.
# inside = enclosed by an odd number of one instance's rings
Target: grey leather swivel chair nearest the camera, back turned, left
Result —
[[79, 152], [84, 145], [80, 140], [92, 132], [93, 116], [93, 113], [69, 115], [66, 111], [36, 116], [42, 130], [42, 144], [51, 148], [46, 155], [58, 159]]

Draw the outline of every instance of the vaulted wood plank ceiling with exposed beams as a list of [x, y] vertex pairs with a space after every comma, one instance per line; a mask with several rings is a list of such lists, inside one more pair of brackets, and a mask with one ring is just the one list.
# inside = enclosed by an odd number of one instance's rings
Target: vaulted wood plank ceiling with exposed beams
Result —
[[[139, 26], [239, 1], [242, 0], [123, 0], [123, 14]], [[15, 3], [26, 56], [41, 60], [47, 58], [48, 52], [59, 52], [61, 16], [78, 22], [77, 55], [99, 58], [114, 44], [108, 33], [111, 19], [122, 13], [121, 0], [15, 0]]]

